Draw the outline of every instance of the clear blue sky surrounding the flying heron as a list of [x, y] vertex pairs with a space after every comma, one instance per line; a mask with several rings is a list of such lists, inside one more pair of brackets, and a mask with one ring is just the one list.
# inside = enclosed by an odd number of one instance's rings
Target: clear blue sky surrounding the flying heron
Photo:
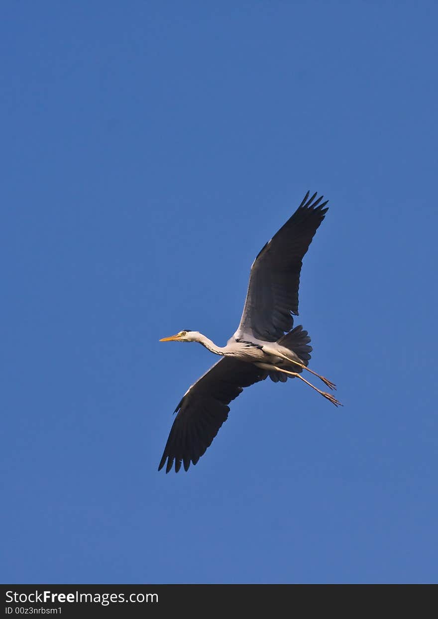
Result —
[[[2, 582], [436, 582], [436, 2], [2, 6]], [[157, 465], [255, 255], [330, 210], [300, 316], [335, 409], [247, 389]]]

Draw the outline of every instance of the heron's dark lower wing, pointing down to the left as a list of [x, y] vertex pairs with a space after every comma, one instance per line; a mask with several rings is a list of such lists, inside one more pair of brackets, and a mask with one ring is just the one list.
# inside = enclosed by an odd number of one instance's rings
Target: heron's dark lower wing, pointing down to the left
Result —
[[176, 407], [178, 412], [170, 430], [158, 470], [166, 463], [168, 473], [173, 462], [175, 471], [181, 462], [187, 470], [196, 464], [210, 446], [220, 426], [226, 421], [231, 400], [241, 394], [243, 387], [264, 380], [267, 372], [252, 363], [224, 357], [190, 387]]

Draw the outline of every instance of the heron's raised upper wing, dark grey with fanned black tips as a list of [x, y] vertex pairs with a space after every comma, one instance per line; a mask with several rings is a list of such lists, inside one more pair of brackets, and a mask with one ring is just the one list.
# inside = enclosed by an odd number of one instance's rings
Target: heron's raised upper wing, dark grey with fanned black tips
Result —
[[309, 192], [292, 217], [278, 230], [252, 264], [242, 318], [234, 337], [276, 342], [298, 316], [299, 274], [328, 200], [320, 204]]

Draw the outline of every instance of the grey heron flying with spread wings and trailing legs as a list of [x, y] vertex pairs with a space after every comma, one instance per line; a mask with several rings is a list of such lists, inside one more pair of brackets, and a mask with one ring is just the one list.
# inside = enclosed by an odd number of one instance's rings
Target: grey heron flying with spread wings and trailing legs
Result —
[[222, 358], [182, 396], [158, 470], [166, 464], [168, 473], [189, 469], [199, 458], [228, 418], [231, 400], [244, 387], [269, 376], [285, 383], [299, 378], [335, 406], [332, 394], [321, 391], [301, 374], [306, 370], [329, 389], [334, 383], [307, 367], [311, 358], [310, 337], [301, 325], [293, 328], [298, 316], [299, 274], [312, 238], [325, 217], [328, 201], [323, 196], [309, 198], [309, 191], [292, 217], [262, 248], [251, 266], [243, 314], [237, 331], [226, 346], [217, 346], [199, 333], [184, 329], [160, 342], [199, 342]]

